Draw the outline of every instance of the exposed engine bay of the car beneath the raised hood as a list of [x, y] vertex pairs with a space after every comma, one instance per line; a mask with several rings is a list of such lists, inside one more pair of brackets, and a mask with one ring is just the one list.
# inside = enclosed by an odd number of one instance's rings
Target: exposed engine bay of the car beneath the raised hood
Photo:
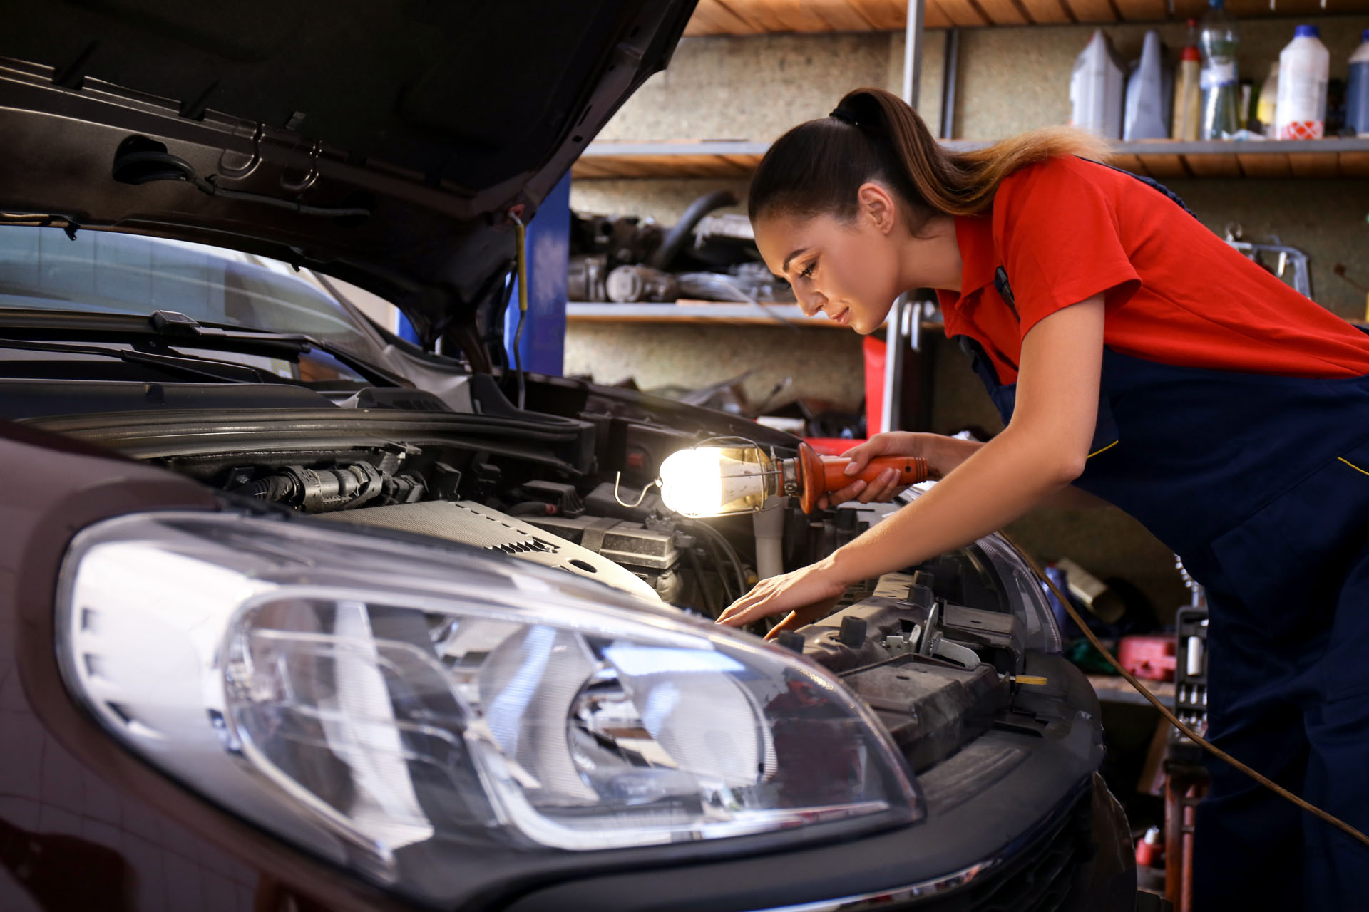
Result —
[[[197, 479], [230, 505], [498, 551], [705, 618], [757, 581], [752, 515], [686, 518], [643, 488], [667, 455], [719, 431], [769, 435], [760, 443], [776, 454], [793, 453], [797, 440], [750, 423], [717, 428], [727, 421], [717, 413], [554, 380], [530, 384], [530, 407], [517, 410], [483, 380], [472, 379], [471, 412], [415, 391], [341, 403], [271, 391], [289, 401], [222, 407], [233, 391], [205, 388], [220, 406], [205, 407], [193, 384], [140, 384], [144, 399], [181, 407], [53, 407], [26, 421]], [[34, 383], [30, 399], [41, 399]], [[904, 495], [912, 496], [914, 489]], [[804, 514], [786, 505], [783, 569], [821, 559], [899, 506]], [[750, 629], [761, 634], [775, 621]], [[969, 762], [962, 748], [993, 730], [1039, 734], [1064, 722], [1049, 707], [1023, 708], [1031, 700], [1017, 678], [1038, 654], [1058, 651], [1058, 633], [1025, 565], [994, 537], [854, 585], [830, 617], [779, 643], [841, 677], [914, 771], [958, 753], [957, 762]], [[998, 763], [1005, 753], [994, 756]]]

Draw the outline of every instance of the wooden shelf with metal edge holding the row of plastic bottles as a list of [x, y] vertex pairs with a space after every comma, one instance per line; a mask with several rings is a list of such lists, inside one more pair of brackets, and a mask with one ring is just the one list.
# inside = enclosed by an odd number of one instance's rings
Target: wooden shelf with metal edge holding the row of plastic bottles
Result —
[[[969, 139], [950, 149], [988, 145]], [[701, 142], [591, 142], [575, 163], [576, 179], [746, 178], [769, 144], [749, 139]], [[1113, 144], [1113, 164], [1153, 178], [1364, 178], [1369, 138]]]

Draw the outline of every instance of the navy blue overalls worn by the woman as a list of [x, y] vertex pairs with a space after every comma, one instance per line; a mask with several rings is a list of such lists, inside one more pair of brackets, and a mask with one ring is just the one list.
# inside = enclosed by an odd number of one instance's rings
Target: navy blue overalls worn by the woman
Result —
[[[995, 284], [1013, 306], [1002, 269]], [[1008, 423], [1016, 384], [960, 339]], [[1138, 518], [1207, 589], [1209, 738], [1369, 831], [1369, 377], [1105, 347], [1090, 453], [1075, 484]], [[1195, 908], [1369, 909], [1369, 848], [1223, 762], [1207, 768]]]

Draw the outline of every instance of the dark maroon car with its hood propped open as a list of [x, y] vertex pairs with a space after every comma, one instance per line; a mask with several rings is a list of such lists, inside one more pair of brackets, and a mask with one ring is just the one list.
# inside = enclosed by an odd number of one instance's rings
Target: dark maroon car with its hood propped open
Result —
[[[799, 440], [500, 354], [691, 5], [7, 4], [0, 908], [1134, 907], [1005, 539], [712, 623], [756, 520], [650, 483]], [[782, 503], [779, 559], [916, 496]]]

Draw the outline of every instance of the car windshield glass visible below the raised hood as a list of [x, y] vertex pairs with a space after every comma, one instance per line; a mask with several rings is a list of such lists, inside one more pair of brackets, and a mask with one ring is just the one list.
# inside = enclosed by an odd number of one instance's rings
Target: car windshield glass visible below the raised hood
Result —
[[148, 314], [301, 332], [375, 362], [376, 343], [308, 272], [200, 243], [0, 226], [0, 308]]

